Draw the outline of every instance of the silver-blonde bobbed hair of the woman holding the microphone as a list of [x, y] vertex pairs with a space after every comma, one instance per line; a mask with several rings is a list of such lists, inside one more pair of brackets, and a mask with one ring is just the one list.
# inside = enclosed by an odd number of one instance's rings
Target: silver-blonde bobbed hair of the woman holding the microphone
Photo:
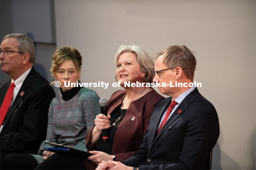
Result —
[[118, 48], [115, 56], [115, 64], [119, 60], [121, 54], [125, 52], [130, 52], [135, 54], [137, 62], [139, 63], [140, 70], [146, 73], [145, 77], [142, 79], [143, 82], [153, 82], [155, 77], [155, 64], [153, 58], [151, 58], [148, 53], [137, 45], [122, 45]]

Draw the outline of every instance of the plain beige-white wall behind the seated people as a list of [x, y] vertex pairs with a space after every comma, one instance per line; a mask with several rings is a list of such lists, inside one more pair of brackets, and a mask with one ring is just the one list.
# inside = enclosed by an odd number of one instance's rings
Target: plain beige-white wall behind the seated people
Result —
[[[153, 55], [173, 44], [197, 54], [195, 80], [217, 109], [213, 169], [255, 169], [255, 1], [55, 1], [57, 47], [83, 56], [83, 82], [115, 82], [122, 44]], [[109, 98], [116, 88], [91, 88]]]

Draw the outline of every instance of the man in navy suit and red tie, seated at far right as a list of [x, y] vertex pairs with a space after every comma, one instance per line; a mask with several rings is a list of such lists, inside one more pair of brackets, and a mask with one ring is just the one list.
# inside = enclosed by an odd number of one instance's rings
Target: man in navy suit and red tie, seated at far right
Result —
[[188, 86], [196, 68], [193, 52], [186, 46], [167, 47], [155, 65], [154, 81], [162, 84], [158, 87], [162, 94], [171, 97], [157, 103], [148, 132], [131, 158], [102, 162], [98, 169], [209, 169], [219, 121], [214, 106], [197, 88]]

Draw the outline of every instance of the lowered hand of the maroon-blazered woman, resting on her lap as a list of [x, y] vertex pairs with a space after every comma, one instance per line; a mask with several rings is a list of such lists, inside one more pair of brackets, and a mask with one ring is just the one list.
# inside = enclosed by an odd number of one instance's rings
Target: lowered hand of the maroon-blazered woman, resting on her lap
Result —
[[90, 151], [91, 154], [94, 154], [92, 156], [89, 156], [87, 159], [90, 160], [92, 163], [99, 165], [99, 163], [102, 162], [102, 160], [113, 160], [114, 155], [108, 155], [105, 152], [101, 151]]

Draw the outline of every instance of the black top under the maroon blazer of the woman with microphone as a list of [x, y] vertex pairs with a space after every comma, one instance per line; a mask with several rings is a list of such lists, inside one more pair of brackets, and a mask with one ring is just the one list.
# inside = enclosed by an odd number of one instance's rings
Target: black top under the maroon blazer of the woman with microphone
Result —
[[[113, 123], [115, 123], [115, 121], [118, 119], [118, 117], [121, 116], [121, 110], [122, 110], [122, 114], [123, 114], [121, 120], [119, 122], [117, 122], [115, 125], [113, 125]], [[98, 142], [95, 146], [95, 150], [103, 151], [103, 152], [106, 152], [107, 154], [111, 155], [116, 130], [117, 130], [119, 124], [122, 122], [126, 111], [127, 111], [127, 109], [121, 109], [120, 107], [118, 107], [115, 109], [113, 114], [111, 114], [111, 118], [109, 120], [111, 126], [109, 129], [107, 129], [108, 140], [107, 140], [107, 142], [103, 142], [102, 135], [101, 135], [100, 139], [98, 140]]]

